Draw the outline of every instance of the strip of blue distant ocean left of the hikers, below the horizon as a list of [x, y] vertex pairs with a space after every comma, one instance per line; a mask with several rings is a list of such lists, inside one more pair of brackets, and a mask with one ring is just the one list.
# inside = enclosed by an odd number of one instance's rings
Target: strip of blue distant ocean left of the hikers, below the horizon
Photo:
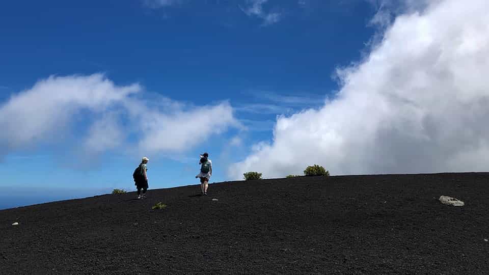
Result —
[[[128, 190], [133, 191], [133, 190]], [[2, 187], [0, 186], [0, 210], [33, 204], [83, 199], [110, 194], [111, 188], [73, 189], [42, 187]]]

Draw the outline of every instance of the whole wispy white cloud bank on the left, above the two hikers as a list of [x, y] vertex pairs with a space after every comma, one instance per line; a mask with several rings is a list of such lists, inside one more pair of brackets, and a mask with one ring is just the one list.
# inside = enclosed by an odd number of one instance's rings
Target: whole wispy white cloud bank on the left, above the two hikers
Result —
[[138, 84], [116, 86], [102, 74], [50, 76], [0, 105], [0, 154], [50, 142], [72, 142], [87, 154], [131, 152], [134, 143], [132, 153], [184, 152], [232, 126], [238, 123], [228, 102], [189, 106], [142, 93]]

